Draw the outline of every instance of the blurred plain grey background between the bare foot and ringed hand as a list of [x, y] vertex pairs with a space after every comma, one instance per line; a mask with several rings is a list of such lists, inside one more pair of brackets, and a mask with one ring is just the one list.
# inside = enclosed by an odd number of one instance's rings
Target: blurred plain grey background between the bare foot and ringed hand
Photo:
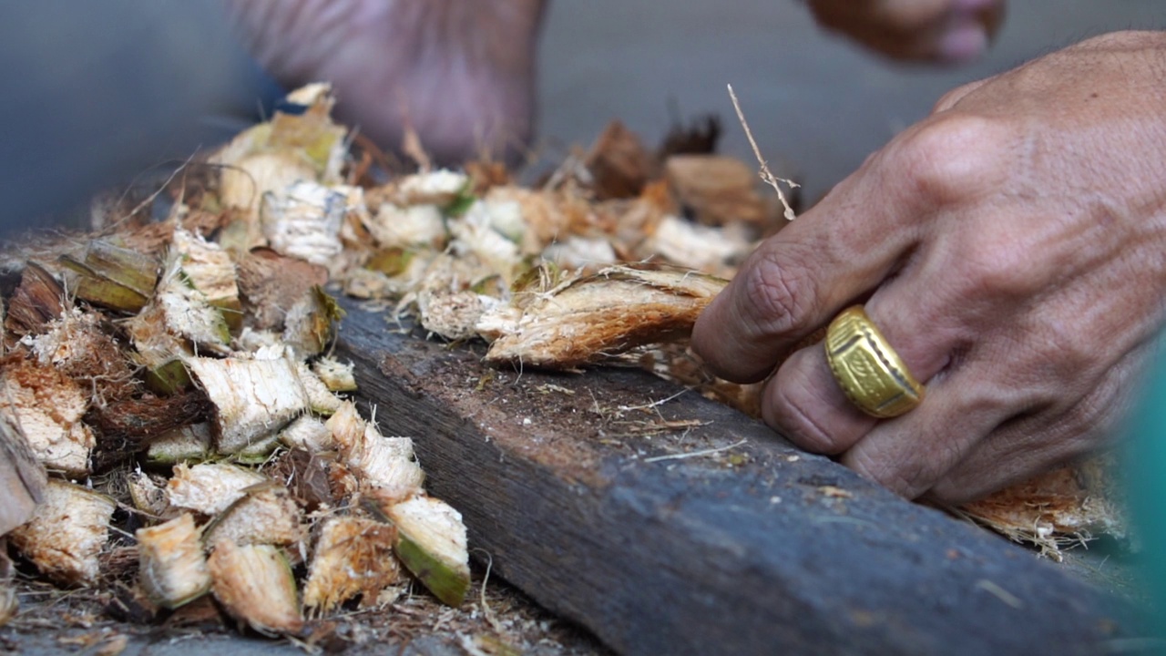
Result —
[[1012, 0], [984, 60], [942, 69], [886, 62], [824, 34], [796, 0], [553, 0], [540, 133], [552, 147], [586, 144], [619, 118], [654, 144], [675, 102], [684, 117], [718, 113], [722, 149], [752, 160], [731, 83], [765, 156], [800, 172], [814, 198], [944, 91], [1129, 28], [1166, 28], [1166, 2]]

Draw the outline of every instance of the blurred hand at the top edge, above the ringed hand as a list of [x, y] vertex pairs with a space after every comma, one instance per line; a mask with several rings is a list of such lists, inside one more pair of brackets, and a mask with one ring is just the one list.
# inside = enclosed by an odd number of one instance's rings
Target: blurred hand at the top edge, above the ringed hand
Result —
[[988, 49], [1004, 0], [809, 0], [819, 25], [895, 60], [961, 63]]

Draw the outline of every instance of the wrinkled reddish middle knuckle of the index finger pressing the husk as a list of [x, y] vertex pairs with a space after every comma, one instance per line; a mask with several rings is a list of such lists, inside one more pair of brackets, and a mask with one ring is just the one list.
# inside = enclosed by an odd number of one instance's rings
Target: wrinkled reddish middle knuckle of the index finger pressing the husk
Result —
[[740, 314], [759, 337], [801, 334], [813, 316], [817, 300], [809, 268], [799, 266], [792, 253], [759, 253], [744, 272], [742, 289], [749, 307]]

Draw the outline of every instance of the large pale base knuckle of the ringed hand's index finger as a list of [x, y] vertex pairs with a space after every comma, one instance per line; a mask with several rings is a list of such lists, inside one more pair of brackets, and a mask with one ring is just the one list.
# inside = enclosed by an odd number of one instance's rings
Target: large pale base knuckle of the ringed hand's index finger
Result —
[[906, 193], [933, 205], [984, 195], [1003, 181], [1000, 125], [968, 113], [935, 114], [906, 133], [893, 149], [894, 174]]

